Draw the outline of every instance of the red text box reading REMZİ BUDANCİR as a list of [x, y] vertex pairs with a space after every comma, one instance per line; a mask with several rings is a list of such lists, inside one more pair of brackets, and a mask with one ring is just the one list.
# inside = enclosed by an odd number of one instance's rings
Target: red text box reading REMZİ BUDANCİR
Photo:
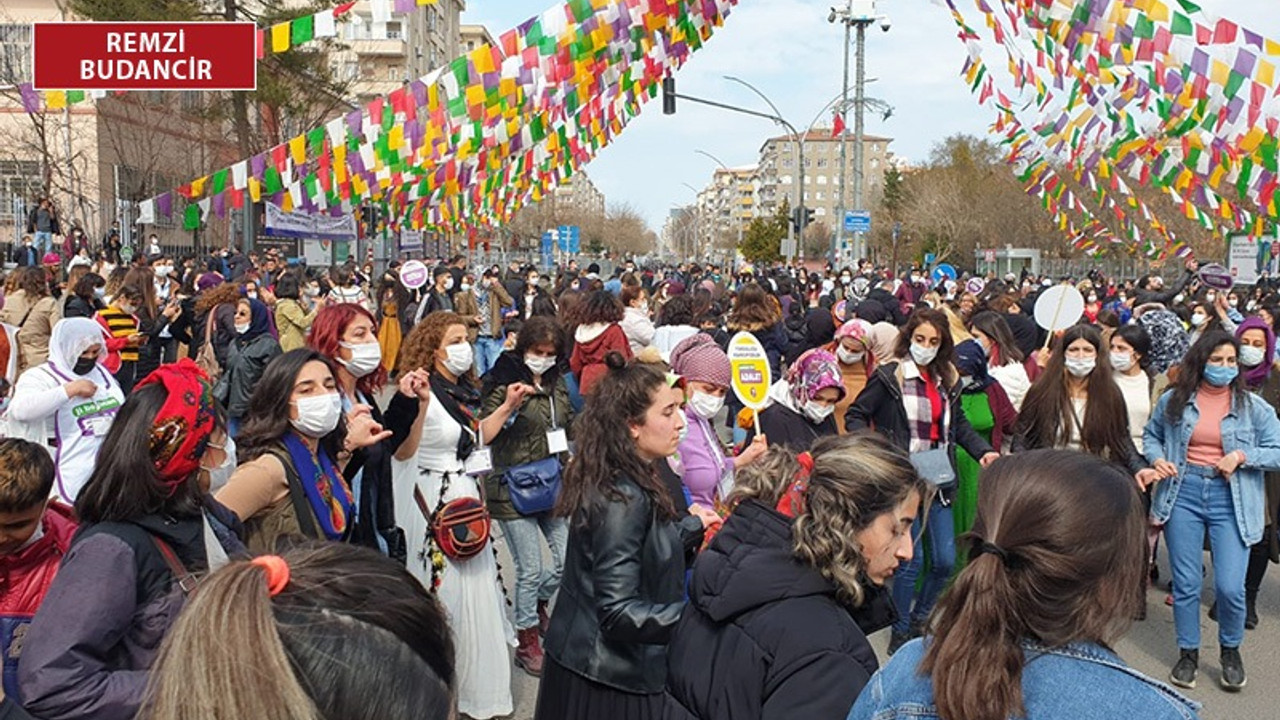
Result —
[[35, 23], [36, 90], [255, 90], [253, 23]]

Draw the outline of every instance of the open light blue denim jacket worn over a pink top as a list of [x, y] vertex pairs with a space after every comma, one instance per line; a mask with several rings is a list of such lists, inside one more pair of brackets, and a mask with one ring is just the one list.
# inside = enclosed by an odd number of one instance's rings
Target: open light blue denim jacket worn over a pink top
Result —
[[[1156, 523], [1166, 523], [1178, 501], [1178, 489], [1187, 471], [1187, 446], [1192, 430], [1199, 421], [1199, 409], [1193, 395], [1183, 411], [1181, 423], [1170, 423], [1166, 407], [1172, 392], [1161, 396], [1151, 411], [1151, 420], [1142, 433], [1142, 450], [1147, 460], [1155, 462], [1164, 459], [1178, 466], [1178, 475], [1156, 486], [1151, 498], [1151, 518]], [[1265, 470], [1280, 470], [1280, 420], [1267, 401], [1254, 393], [1248, 393], [1249, 402], [1240, 407], [1231, 398], [1231, 409], [1222, 418], [1222, 451], [1244, 452], [1240, 465], [1229, 480], [1231, 484], [1231, 503], [1235, 506], [1235, 524], [1244, 544], [1252, 546], [1262, 539], [1266, 524], [1266, 491], [1262, 474]]]

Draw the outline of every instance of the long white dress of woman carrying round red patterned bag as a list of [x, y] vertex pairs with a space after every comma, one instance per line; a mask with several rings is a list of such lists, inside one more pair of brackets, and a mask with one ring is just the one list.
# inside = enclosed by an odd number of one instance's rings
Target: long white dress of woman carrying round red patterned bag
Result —
[[[470, 432], [470, 430], [468, 430]], [[422, 587], [431, 587], [431, 560], [426, 551], [428, 523], [413, 500], [413, 483], [422, 491], [426, 506], [435, 510], [440, 500], [444, 473], [449, 488], [444, 500], [480, 497], [476, 479], [462, 474], [457, 459], [460, 425], [431, 395], [417, 457], [396, 464], [396, 520], [408, 542], [408, 570]], [[490, 538], [490, 547], [493, 539]], [[498, 560], [484, 550], [468, 560], [444, 559], [444, 573], [436, 597], [449, 615], [457, 644], [458, 712], [486, 720], [511, 715], [511, 656], [516, 630], [507, 618], [506, 601], [498, 584]]]

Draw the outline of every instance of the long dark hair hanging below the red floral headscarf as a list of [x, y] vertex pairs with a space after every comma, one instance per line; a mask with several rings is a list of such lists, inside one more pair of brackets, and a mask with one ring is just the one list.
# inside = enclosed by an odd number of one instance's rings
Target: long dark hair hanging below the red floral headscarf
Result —
[[[191, 518], [200, 514], [200, 486], [192, 473], [173, 495], [161, 483], [151, 457], [151, 428], [169, 393], [160, 383], [141, 387], [120, 406], [102, 439], [88, 484], [76, 498], [82, 523], [123, 523], [147, 515]], [[219, 410], [220, 415], [220, 410]], [[218, 420], [219, 425], [223, 423]]]

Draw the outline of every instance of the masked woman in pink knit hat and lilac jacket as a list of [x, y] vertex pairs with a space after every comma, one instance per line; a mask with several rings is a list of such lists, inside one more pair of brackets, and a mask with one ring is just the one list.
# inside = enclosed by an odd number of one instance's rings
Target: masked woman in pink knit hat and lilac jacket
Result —
[[671, 370], [687, 384], [689, 432], [668, 459], [668, 468], [680, 478], [682, 495], [689, 496], [686, 505], [724, 509], [737, 470], [755, 462], [768, 450], [768, 441], [758, 436], [737, 457], [724, 452], [712, 423], [724, 406], [732, 373], [728, 356], [710, 336], [698, 333], [677, 345], [671, 352]]

